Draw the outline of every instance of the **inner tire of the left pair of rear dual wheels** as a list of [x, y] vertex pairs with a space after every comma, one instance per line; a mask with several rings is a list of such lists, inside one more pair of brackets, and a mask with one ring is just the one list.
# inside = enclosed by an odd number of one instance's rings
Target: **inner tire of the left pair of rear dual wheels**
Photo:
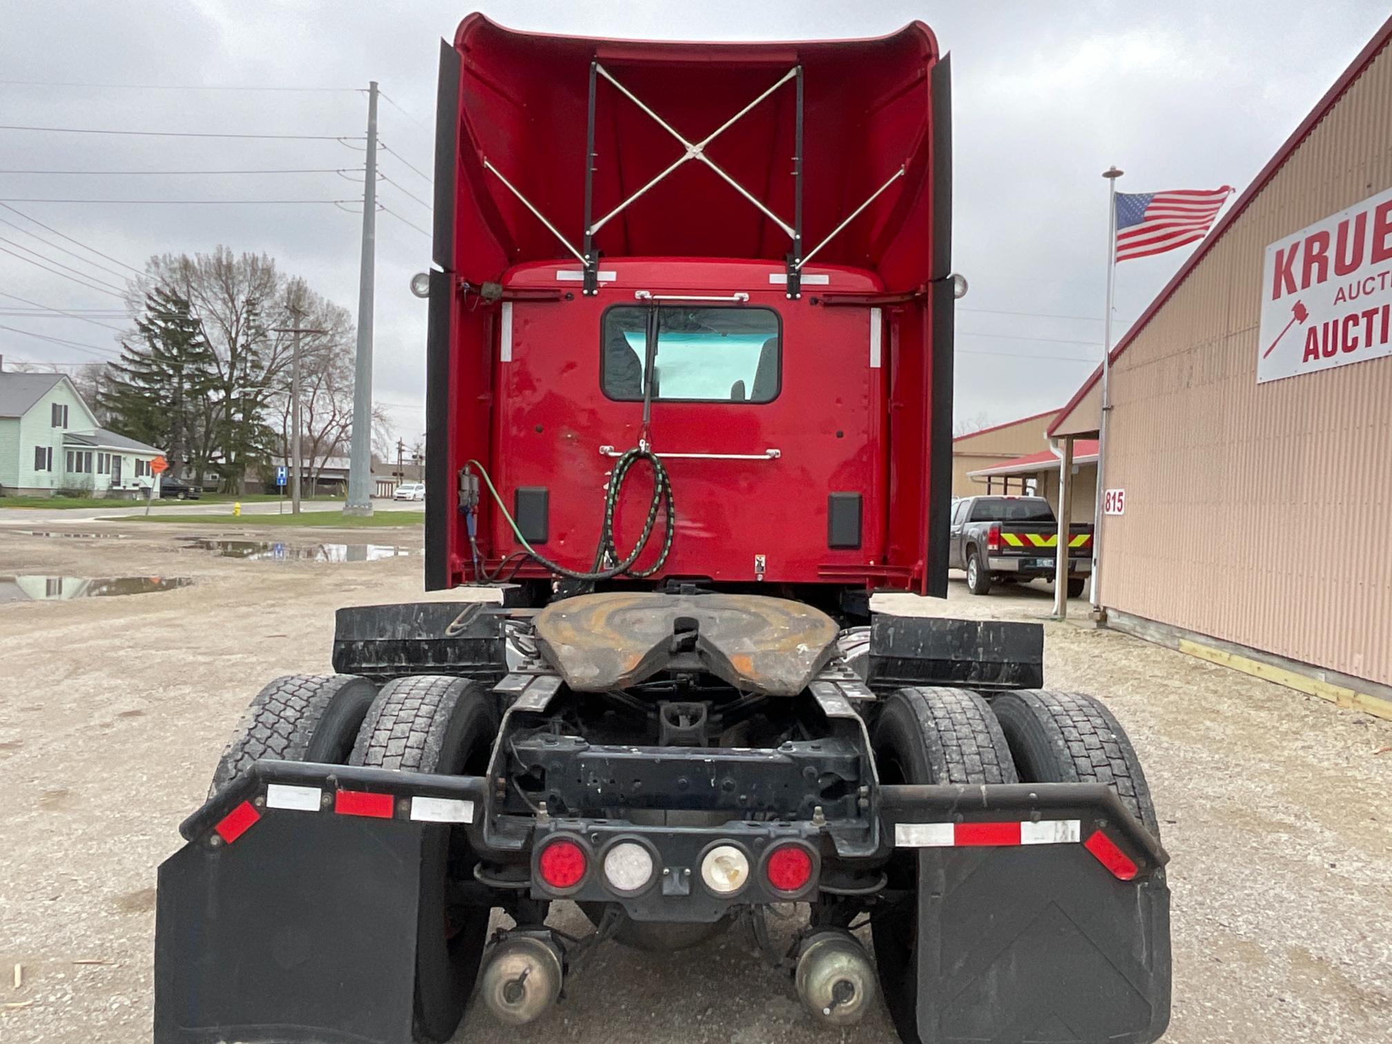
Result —
[[[498, 731], [484, 685], [470, 678], [413, 675], [381, 688], [354, 746], [351, 764], [443, 775], [483, 775]], [[451, 881], [472, 883], [473, 857], [462, 828], [426, 832], [416, 924], [418, 1041], [447, 1041], [464, 1018], [489, 931], [489, 909], [448, 908]]]

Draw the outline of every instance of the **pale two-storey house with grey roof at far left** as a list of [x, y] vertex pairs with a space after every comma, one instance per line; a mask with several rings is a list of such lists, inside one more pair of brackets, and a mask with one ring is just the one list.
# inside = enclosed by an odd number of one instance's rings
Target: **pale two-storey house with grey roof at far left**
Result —
[[0, 496], [135, 497], [160, 455], [99, 427], [65, 374], [0, 370]]

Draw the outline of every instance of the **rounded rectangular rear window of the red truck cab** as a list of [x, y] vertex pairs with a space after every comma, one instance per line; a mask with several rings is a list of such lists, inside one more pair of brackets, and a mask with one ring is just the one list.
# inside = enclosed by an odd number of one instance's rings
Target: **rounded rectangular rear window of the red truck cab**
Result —
[[600, 330], [604, 394], [640, 402], [649, 356], [654, 402], [773, 402], [782, 384], [782, 330], [771, 308], [607, 309]]

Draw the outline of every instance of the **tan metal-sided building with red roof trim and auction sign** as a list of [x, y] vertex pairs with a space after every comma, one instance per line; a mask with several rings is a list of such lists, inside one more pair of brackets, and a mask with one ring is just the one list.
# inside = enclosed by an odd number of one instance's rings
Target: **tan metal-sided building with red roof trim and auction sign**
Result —
[[[1114, 348], [1098, 576], [1109, 626], [1385, 717], [1389, 42], [1392, 19]], [[1097, 437], [1100, 376], [1051, 437]]]

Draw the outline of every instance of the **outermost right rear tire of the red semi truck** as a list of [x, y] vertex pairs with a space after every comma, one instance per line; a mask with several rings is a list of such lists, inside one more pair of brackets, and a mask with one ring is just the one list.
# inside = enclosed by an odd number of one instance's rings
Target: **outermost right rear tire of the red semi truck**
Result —
[[1080, 692], [1020, 689], [991, 700], [1022, 782], [1102, 782], [1155, 838], [1160, 824], [1136, 748], [1112, 713]]

